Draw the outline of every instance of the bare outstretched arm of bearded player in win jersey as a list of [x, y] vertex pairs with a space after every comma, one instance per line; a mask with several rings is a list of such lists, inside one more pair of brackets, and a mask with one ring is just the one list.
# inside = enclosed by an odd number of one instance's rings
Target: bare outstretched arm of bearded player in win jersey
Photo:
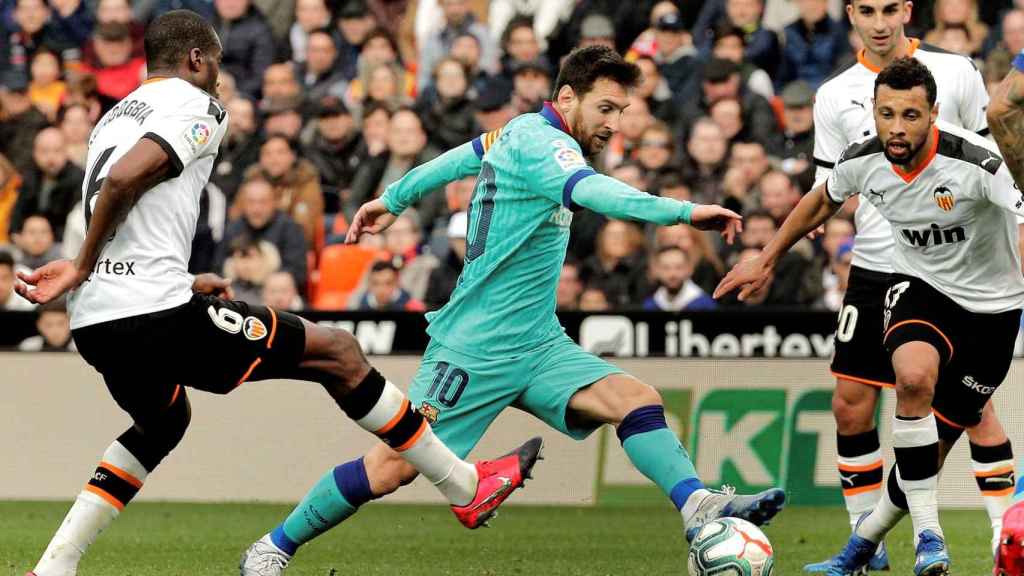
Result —
[[767, 282], [775, 263], [807, 233], [818, 228], [833, 216], [843, 203], [836, 203], [828, 196], [827, 183], [822, 182], [804, 196], [782, 222], [771, 241], [757, 258], [736, 263], [729, 274], [715, 288], [715, 297], [720, 298], [740, 288], [739, 299], [743, 300]]

